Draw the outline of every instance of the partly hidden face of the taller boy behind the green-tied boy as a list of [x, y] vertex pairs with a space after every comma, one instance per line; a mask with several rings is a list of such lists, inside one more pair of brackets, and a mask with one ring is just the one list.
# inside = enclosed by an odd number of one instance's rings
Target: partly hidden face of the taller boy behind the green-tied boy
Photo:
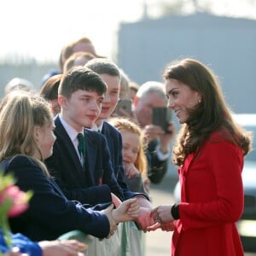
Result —
[[108, 89], [104, 100], [102, 102], [102, 112], [98, 118], [108, 119], [113, 113], [114, 108], [119, 100], [119, 89], [120, 89], [120, 79], [116, 76], [108, 75], [107, 73], [100, 74], [102, 80], [108, 85]]

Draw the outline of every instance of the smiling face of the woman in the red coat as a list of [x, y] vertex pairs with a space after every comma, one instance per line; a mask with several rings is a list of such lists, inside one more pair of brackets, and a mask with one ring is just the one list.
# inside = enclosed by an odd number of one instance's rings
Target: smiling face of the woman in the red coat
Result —
[[176, 79], [167, 79], [165, 84], [168, 108], [174, 111], [180, 124], [187, 123], [189, 119], [188, 110], [195, 108], [201, 102], [200, 93], [191, 90], [188, 85]]

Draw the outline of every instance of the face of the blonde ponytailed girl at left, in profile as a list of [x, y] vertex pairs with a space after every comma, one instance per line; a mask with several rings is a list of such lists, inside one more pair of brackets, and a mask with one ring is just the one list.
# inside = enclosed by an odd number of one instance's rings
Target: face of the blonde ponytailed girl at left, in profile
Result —
[[[41, 149], [43, 159], [49, 158], [53, 153], [53, 145], [55, 143], [54, 130], [55, 125], [53, 121], [46, 121], [43, 127], [35, 127], [35, 136], [38, 143], [38, 147]], [[36, 154], [36, 158], [38, 155]], [[40, 156], [39, 156], [40, 158]]]

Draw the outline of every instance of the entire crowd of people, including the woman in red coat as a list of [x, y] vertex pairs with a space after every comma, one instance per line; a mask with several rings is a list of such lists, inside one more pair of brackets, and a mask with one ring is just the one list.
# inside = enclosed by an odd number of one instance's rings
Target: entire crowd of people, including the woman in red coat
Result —
[[[185, 58], [166, 65], [163, 82], [139, 85], [89, 38], [65, 45], [59, 65], [38, 91], [12, 79], [0, 105], [1, 172], [33, 193], [9, 218], [12, 247], [0, 232], [0, 252], [143, 256], [145, 233], [161, 229], [173, 231], [172, 255], [243, 255], [236, 221], [252, 138], [212, 70]], [[131, 108], [118, 113], [121, 99]], [[154, 125], [154, 108], [170, 108], [180, 131]], [[153, 206], [150, 183], [170, 158], [181, 201]]]

